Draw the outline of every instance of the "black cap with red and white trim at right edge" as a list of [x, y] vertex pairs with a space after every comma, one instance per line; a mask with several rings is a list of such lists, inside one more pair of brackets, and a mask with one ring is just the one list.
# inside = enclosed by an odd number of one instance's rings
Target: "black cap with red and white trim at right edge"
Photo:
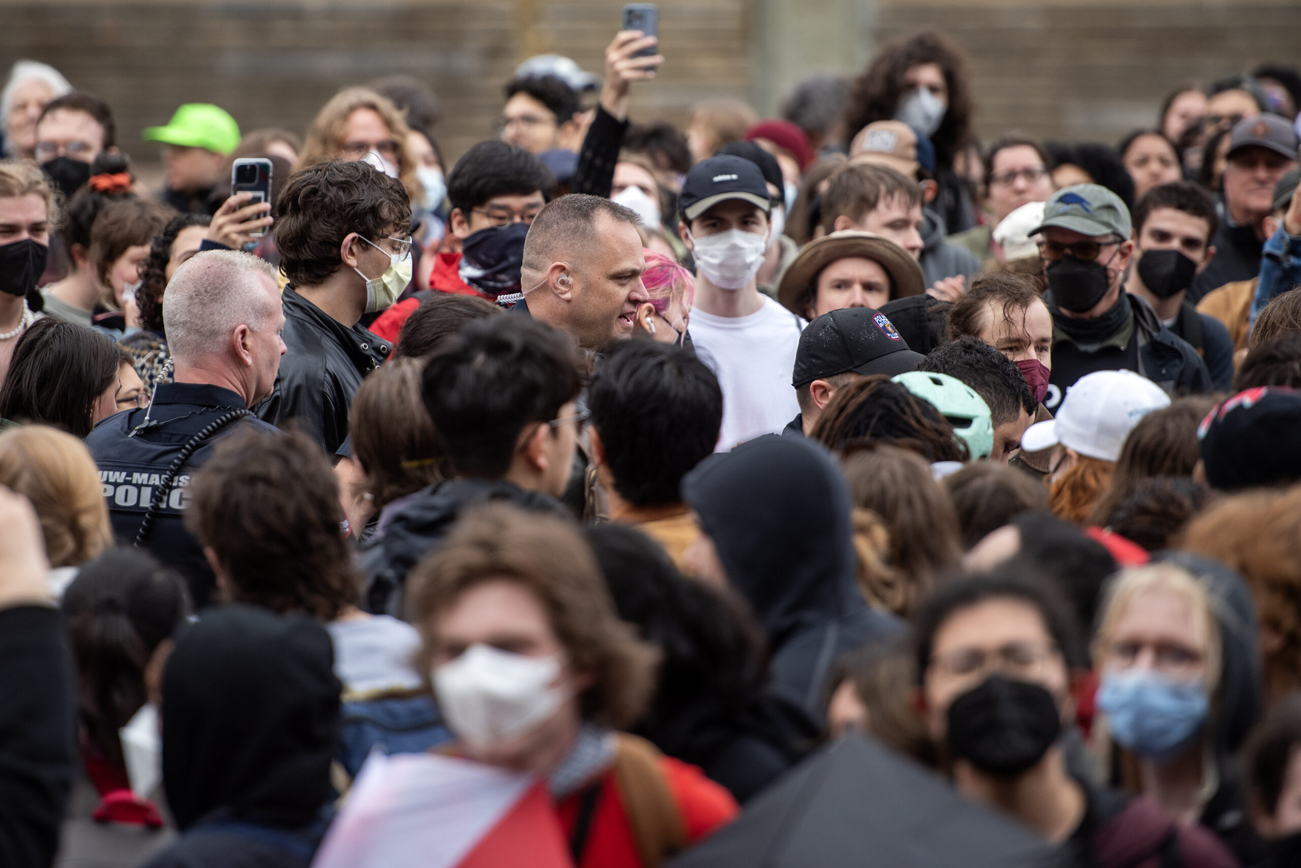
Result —
[[1220, 491], [1301, 480], [1301, 390], [1263, 387], [1239, 392], [1197, 429], [1206, 481]]

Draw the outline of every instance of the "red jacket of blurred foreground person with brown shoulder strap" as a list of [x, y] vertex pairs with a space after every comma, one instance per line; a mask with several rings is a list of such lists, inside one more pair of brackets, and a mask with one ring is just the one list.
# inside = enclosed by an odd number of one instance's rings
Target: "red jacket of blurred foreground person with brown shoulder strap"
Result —
[[[695, 765], [670, 756], [658, 759], [669, 791], [682, 815], [687, 845], [693, 845], [736, 816], [736, 800], [726, 789], [705, 777]], [[575, 794], [557, 806], [561, 825], [571, 839], [578, 825], [582, 795]], [[583, 859], [578, 868], [644, 867], [628, 822], [614, 769], [601, 776], [601, 791], [588, 826]]]

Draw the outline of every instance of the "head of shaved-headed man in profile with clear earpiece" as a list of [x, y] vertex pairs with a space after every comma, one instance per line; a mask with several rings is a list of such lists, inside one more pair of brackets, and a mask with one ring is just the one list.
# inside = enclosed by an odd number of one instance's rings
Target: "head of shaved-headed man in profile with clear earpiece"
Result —
[[[641, 285], [640, 220], [602, 197], [572, 194], [543, 208], [528, 228], [518, 311], [554, 325], [584, 350], [628, 337]], [[503, 301], [498, 298], [498, 301]]]

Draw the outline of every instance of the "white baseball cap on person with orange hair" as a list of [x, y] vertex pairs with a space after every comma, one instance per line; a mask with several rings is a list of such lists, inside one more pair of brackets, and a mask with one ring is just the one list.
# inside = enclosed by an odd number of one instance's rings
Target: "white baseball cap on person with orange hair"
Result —
[[1021, 435], [1021, 449], [1038, 452], [1056, 444], [1081, 455], [1115, 461], [1138, 422], [1170, 406], [1160, 387], [1133, 371], [1094, 371], [1066, 390], [1056, 419], [1038, 422]]

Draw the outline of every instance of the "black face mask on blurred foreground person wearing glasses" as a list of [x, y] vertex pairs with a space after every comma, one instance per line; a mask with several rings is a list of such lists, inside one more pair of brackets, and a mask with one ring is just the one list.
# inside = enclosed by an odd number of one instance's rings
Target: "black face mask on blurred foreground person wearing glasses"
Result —
[[948, 707], [955, 756], [998, 777], [1016, 777], [1043, 759], [1062, 734], [1053, 695], [1038, 685], [990, 675]]

